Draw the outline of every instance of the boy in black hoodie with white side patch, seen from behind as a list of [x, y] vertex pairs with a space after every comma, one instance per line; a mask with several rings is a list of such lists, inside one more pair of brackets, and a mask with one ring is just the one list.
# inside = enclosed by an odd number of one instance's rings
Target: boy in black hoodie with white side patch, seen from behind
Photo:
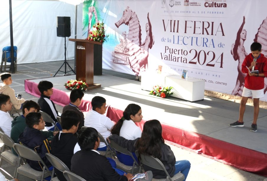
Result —
[[[79, 121], [80, 117], [76, 111], [66, 110], [63, 112], [61, 115], [62, 131], [56, 134], [51, 141], [51, 154], [58, 157], [69, 169], [71, 169], [71, 157], [80, 150], [77, 144], [78, 138], [73, 135], [78, 130]], [[56, 168], [55, 174], [59, 180], [66, 180], [63, 172]]]

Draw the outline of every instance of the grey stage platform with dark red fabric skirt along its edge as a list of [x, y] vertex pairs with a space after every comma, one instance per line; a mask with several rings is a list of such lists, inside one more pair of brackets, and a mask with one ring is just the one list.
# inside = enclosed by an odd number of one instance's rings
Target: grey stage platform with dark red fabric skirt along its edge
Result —
[[[39, 81], [51, 81], [54, 85], [51, 100], [64, 106], [69, 103], [71, 92], [65, 89], [64, 83], [70, 79], [75, 79], [75, 75], [26, 80], [25, 91], [40, 97]], [[109, 105], [107, 116], [117, 122], [122, 110], [136, 103], [142, 108], [143, 121], [138, 124], [141, 129], [146, 120], [157, 119], [162, 123], [164, 139], [238, 169], [267, 176], [266, 109], [260, 108], [258, 131], [250, 132], [252, 106], [246, 106], [245, 127], [232, 128], [229, 124], [238, 119], [238, 103], [207, 96], [196, 102], [174, 97], [162, 99], [141, 90], [138, 81], [110, 75], [94, 76], [94, 82], [101, 84], [101, 88], [85, 92], [81, 110], [88, 112], [91, 99], [99, 95]]]

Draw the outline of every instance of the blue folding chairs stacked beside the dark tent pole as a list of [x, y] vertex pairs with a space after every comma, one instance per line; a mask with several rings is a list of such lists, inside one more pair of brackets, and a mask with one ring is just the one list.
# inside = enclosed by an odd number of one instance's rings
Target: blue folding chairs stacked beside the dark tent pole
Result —
[[[14, 68], [15, 72], [17, 71], [17, 46], [13, 46], [14, 50]], [[9, 65], [6, 65], [6, 63], [11, 63], [11, 46], [6, 46], [3, 48], [2, 51], [2, 62], [1, 62], [1, 72], [6, 72], [6, 69], [10, 67]]]

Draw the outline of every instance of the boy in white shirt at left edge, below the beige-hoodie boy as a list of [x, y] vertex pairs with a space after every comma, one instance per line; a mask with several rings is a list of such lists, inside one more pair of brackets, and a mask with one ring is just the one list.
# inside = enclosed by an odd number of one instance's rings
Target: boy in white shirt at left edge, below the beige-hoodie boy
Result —
[[12, 110], [12, 102], [6, 94], [0, 94], [0, 128], [10, 136], [12, 118], [8, 111]]

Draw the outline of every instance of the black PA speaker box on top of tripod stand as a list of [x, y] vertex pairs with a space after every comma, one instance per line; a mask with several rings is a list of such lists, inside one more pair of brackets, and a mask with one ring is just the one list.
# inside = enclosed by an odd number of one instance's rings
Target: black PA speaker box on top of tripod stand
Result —
[[71, 36], [71, 17], [57, 16], [57, 36]]

